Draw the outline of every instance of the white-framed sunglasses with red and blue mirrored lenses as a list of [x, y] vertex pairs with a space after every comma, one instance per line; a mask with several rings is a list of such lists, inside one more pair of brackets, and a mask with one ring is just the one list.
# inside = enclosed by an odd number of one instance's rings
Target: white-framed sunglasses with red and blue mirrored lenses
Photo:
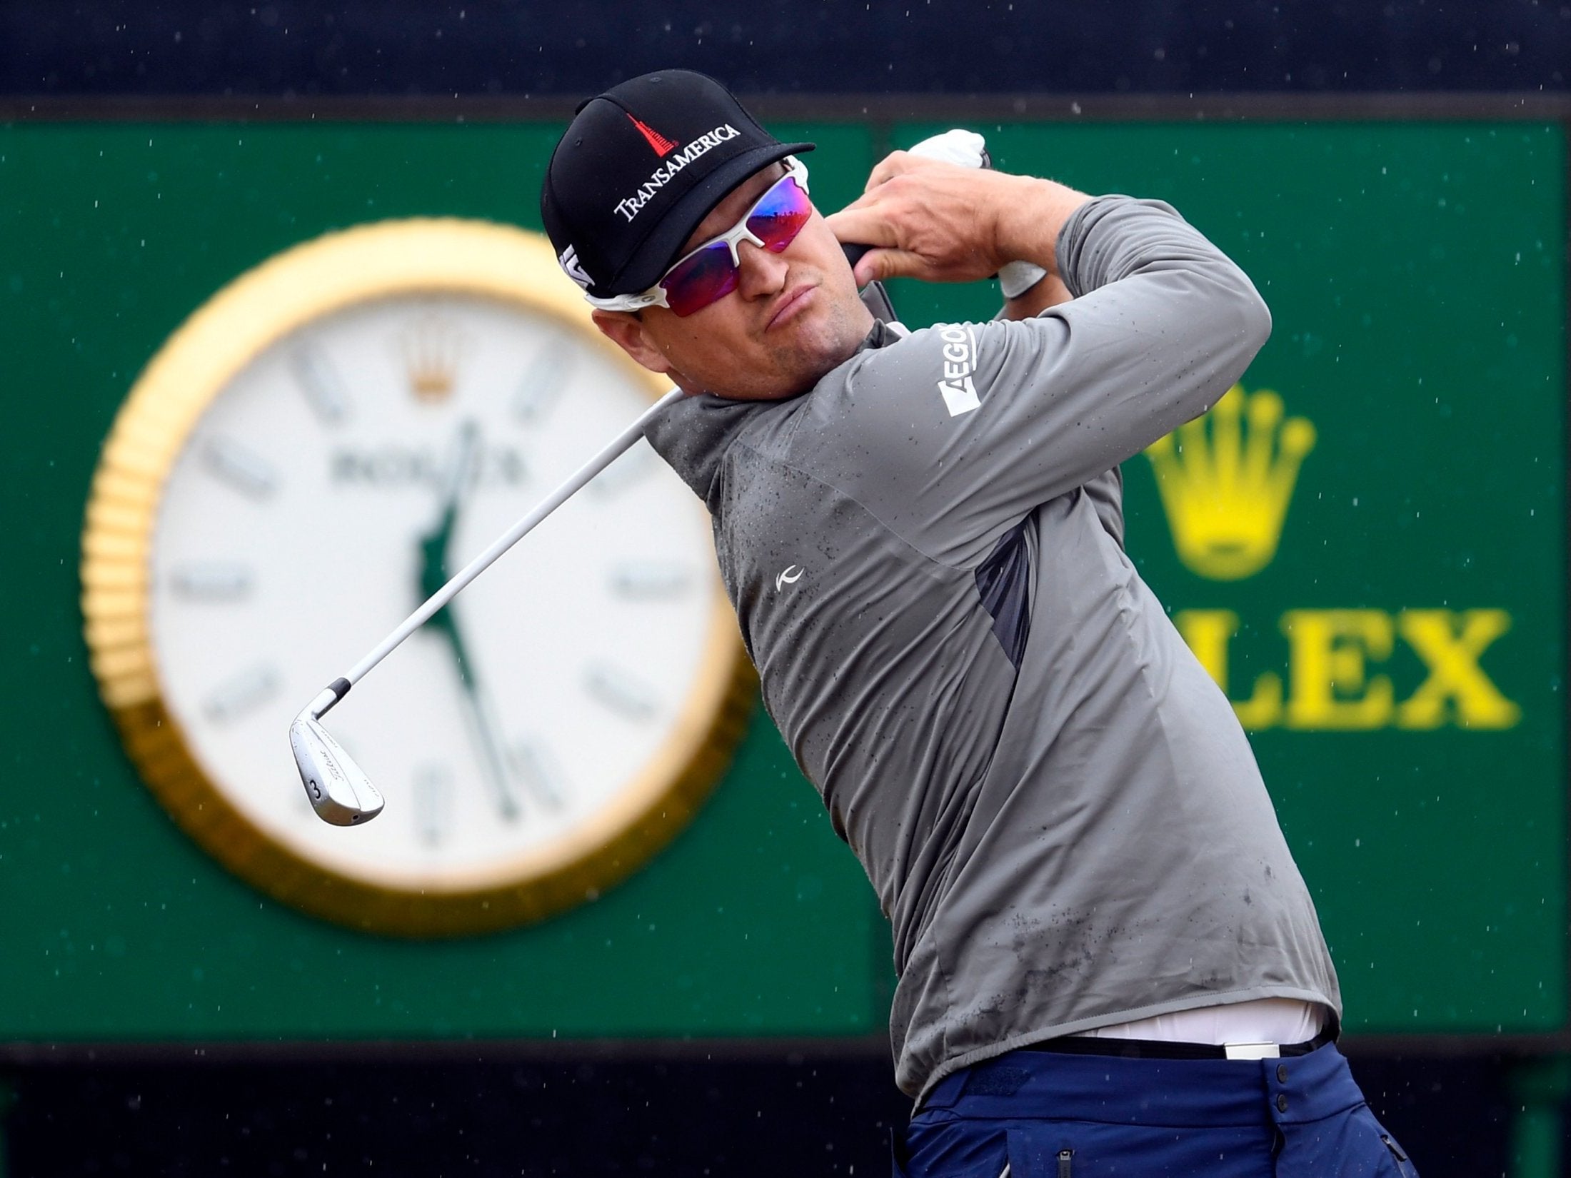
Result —
[[812, 217], [812, 201], [807, 199], [807, 165], [795, 155], [787, 155], [784, 162], [786, 174], [775, 181], [734, 226], [682, 254], [647, 291], [611, 298], [586, 294], [584, 298], [600, 311], [666, 306], [679, 316], [690, 316], [724, 298], [737, 289], [737, 270], [742, 265], [737, 253], [740, 242], [753, 242], [760, 250], [782, 253]]

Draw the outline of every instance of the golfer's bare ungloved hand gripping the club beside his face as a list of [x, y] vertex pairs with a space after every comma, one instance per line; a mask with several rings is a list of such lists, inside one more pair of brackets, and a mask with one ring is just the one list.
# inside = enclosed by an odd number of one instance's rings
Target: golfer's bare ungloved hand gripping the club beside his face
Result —
[[842, 242], [869, 250], [856, 283], [922, 278], [972, 283], [1026, 259], [1054, 269], [1054, 243], [1086, 193], [1053, 181], [961, 168], [897, 151], [867, 177], [861, 198], [828, 217]]

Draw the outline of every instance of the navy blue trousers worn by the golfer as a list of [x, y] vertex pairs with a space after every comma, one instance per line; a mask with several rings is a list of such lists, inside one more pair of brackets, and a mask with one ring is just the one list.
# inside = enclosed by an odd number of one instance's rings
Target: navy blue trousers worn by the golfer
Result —
[[1335, 1044], [1265, 1060], [1012, 1051], [943, 1079], [895, 1178], [1415, 1178]]

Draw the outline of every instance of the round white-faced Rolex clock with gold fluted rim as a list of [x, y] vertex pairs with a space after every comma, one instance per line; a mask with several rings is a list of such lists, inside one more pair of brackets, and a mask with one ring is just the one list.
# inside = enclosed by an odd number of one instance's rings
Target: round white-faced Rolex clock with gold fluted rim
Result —
[[704, 506], [647, 443], [335, 710], [382, 817], [322, 823], [284, 734], [663, 390], [500, 225], [361, 226], [214, 295], [121, 408], [83, 536], [93, 671], [176, 821], [281, 900], [408, 936], [540, 919], [654, 854], [753, 685]]

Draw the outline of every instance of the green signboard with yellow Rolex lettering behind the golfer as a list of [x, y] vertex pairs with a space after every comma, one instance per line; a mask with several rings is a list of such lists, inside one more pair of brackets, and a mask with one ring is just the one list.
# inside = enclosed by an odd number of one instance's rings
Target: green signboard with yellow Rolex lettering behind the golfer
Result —
[[[859, 190], [869, 127], [781, 130], [818, 141], [822, 207]], [[897, 126], [892, 141], [928, 130]], [[1128, 463], [1128, 543], [1251, 730], [1349, 1029], [1560, 1029], [1563, 129], [980, 130], [999, 166], [1170, 201], [1273, 308], [1241, 386]], [[759, 716], [693, 825], [624, 884], [540, 925], [419, 942], [302, 916], [218, 867], [138, 782], [85, 666], [90, 479], [168, 335], [330, 229], [536, 225], [555, 135], [0, 127], [0, 1040], [881, 1029], [888, 930]], [[895, 291], [913, 325], [990, 316], [994, 300]], [[302, 1001], [314, 993], [344, 1001]]]

